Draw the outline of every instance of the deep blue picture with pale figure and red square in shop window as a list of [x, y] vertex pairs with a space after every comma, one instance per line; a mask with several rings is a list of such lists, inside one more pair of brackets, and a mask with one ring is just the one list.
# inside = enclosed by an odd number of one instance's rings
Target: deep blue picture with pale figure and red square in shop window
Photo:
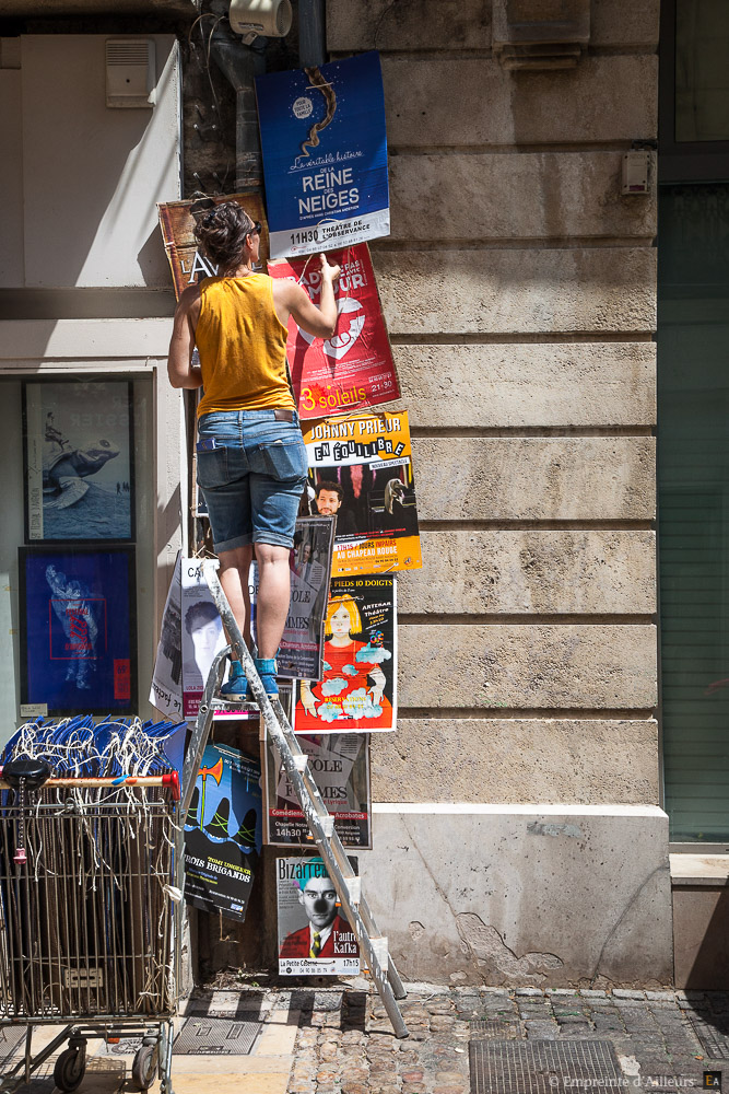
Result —
[[137, 707], [132, 547], [20, 547], [21, 703], [48, 714]]

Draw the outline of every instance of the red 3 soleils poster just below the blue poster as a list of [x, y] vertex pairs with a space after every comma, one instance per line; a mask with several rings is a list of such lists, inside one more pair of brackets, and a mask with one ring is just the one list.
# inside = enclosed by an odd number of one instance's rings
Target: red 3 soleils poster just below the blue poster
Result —
[[[322, 418], [400, 398], [392, 350], [365, 243], [327, 254], [342, 275], [334, 286], [339, 318], [326, 341], [289, 322], [286, 352], [302, 418]], [[268, 264], [271, 277], [298, 281], [318, 304], [319, 258], [282, 258]]]

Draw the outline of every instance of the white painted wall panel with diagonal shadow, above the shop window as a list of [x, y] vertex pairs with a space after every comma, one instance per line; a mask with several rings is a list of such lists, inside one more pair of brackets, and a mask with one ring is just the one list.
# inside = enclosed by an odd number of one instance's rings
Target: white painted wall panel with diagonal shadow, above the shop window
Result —
[[106, 106], [106, 35], [24, 35], [20, 70], [0, 69], [0, 287], [169, 288], [156, 202], [180, 197], [179, 58], [151, 37], [152, 109]]

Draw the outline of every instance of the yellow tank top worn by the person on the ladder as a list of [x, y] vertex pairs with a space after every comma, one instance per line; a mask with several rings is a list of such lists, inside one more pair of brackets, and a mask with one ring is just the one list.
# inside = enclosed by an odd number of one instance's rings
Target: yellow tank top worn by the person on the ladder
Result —
[[204, 278], [195, 331], [204, 389], [198, 417], [211, 410], [295, 410], [286, 335], [273, 306], [272, 278]]

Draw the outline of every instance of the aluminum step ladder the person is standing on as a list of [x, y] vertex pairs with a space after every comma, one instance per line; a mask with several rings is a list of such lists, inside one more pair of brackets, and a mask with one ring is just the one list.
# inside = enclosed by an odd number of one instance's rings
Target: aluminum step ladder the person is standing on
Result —
[[[216, 655], [205, 682], [196, 723], [196, 732], [192, 737], [193, 742], [197, 743], [197, 749], [191, 752], [185, 759], [183, 787], [186, 788], [186, 793], [183, 799], [183, 816], [187, 816], [190, 807], [196, 783], [193, 776], [202, 764], [202, 754], [208, 744], [215, 710], [235, 708], [236, 710], [248, 709], [260, 712], [267, 733], [281, 756], [286, 776], [294, 788], [314, 841], [337, 891], [344, 915], [354, 931], [360, 944], [360, 953], [365, 958], [387, 1015], [392, 1024], [392, 1029], [397, 1037], [407, 1037], [408, 1027], [396, 1002], [397, 999], [404, 999], [407, 992], [395, 967], [395, 962], [390, 957], [387, 938], [384, 938], [377, 929], [375, 918], [362, 893], [362, 878], [355, 875], [350, 865], [346, 852], [334, 830], [334, 818], [327, 811], [327, 806], [308, 769], [308, 757], [296, 740], [296, 735], [281, 706], [281, 700], [278, 697], [271, 699], [266, 694], [260, 677], [256, 672], [254, 660], [243, 641], [238, 625], [231, 612], [231, 606], [227, 603], [216, 571], [217, 561], [215, 559], [205, 559], [202, 562], [202, 572], [210, 587], [215, 607], [223, 620], [230, 645]], [[234, 661], [240, 661], [243, 671], [256, 698], [255, 703], [233, 703], [219, 698], [228, 655]]]

